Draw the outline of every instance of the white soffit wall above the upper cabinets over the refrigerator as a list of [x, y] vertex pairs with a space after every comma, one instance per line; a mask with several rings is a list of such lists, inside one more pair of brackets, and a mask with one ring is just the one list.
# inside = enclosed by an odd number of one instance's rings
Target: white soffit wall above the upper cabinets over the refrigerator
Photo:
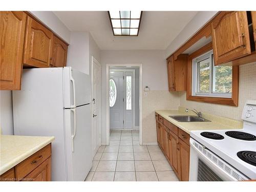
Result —
[[52, 11], [30, 11], [30, 13], [67, 41], [68, 44], [70, 43], [70, 30]]

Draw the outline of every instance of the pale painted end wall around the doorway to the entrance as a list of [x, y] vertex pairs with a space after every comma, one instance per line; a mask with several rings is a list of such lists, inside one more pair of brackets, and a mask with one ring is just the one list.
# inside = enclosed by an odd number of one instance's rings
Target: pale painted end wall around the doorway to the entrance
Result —
[[[164, 50], [102, 50], [101, 59], [101, 127], [102, 144], [106, 143], [106, 64], [107, 63], [142, 63], [142, 83], [152, 91], [168, 92], [167, 70]], [[150, 94], [150, 93], [148, 93]], [[157, 102], [155, 102], [157, 105]], [[144, 106], [143, 106], [144, 107]], [[143, 117], [144, 118], [144, 117]], [[145, 119], [148, 117], [145, 117]], [[143, 125], [142, 125], [143, 126]], [[152, 129], [152, 130], [151, 130]], [[150, 133], [153, 127], [148, 127]], [[149, 137], [155, 142], [155, 136]]]

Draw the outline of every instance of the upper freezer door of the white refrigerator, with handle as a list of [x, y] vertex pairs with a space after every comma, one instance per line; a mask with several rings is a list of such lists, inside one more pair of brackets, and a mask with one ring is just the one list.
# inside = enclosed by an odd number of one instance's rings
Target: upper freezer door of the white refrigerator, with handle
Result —
[[91, 102], [90, 75], [71, 67], [64, 67], [63, 83], [65, 108], [74, 108]]

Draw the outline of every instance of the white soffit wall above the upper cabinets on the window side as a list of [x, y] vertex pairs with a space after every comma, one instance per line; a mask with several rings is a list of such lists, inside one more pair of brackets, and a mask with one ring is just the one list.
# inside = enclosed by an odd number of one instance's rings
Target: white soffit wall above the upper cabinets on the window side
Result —
[[196, 34], [218, 11], [199, 11], [166, 48], [165, 57], [170, 56], [190, 37]]

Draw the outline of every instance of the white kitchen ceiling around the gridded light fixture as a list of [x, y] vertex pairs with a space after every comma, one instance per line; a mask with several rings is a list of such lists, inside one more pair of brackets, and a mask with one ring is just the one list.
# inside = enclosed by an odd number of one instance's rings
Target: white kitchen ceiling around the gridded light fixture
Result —
[[106, 11], [54, 11], [70, 31], [89, 31], [101, 50], [165, 50], [197, 11], [143, 11], [139, 36], [114, 36]]

